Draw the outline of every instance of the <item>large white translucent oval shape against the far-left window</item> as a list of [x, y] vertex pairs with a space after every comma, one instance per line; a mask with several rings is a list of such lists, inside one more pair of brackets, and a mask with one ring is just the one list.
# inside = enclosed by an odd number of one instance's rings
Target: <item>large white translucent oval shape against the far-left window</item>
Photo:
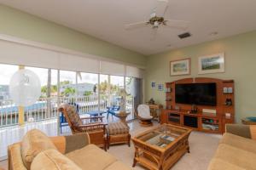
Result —
[[39, 77], [30, 70], [16, 71], [9, 82], [9, 94], [15, 105], [28, 106], [36, 103], [41, 95]]

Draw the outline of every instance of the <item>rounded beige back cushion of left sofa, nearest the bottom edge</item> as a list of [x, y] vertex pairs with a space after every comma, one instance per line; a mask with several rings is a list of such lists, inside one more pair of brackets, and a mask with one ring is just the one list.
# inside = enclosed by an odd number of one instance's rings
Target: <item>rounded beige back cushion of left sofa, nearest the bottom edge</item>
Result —
[[81, 170], [57, 150], [44, 150], [32, 161], [31, 170]]

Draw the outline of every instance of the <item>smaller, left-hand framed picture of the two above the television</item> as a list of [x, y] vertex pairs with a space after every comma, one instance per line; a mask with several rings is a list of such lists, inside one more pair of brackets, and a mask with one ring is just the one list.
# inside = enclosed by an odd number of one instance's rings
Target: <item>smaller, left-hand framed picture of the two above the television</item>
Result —
[[170, 61], [170, 76], [190, 74], [190, 59], [179, 59]]

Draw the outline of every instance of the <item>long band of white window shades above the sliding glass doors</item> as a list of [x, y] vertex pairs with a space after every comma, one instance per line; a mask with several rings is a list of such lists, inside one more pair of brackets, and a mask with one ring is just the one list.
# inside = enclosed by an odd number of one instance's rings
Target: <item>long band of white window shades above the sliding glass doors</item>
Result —
[[142, 71], [137, 67], [100, 61], [99, 59], [86, 58], [75, 54], [65, 54], [51, 49], [5, 40], [0, 40], [0, 63], [123, 77], [143, 77]]

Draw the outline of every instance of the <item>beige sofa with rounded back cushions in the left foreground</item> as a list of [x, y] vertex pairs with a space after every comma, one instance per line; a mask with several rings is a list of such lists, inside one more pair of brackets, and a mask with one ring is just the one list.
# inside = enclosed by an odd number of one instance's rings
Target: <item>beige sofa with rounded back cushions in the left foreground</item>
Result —
[[9, 145], [9, 170], [131, 170], [106, 151], [90, 144], [87, 133], [47, 137], [39, 130]]

